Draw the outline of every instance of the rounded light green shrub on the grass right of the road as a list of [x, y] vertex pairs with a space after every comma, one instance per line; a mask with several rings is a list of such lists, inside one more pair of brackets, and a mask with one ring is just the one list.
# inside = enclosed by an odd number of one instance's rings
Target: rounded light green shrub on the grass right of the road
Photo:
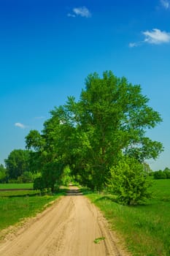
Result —
[[117, 200], [125, 205], [141, 203], [148, 197], [151, 181], [144, 167], [134, 158], [123, 157], [110, 169], [109, 192], [117, 195]]

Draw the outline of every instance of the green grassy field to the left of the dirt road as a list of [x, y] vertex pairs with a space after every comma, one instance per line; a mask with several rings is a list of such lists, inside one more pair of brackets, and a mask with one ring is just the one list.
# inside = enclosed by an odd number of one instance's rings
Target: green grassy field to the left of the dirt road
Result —
[[[1, 184], [0, 188], [31, 188], [31, 184], [26, 187], [26, 184], [13, 184], [15, 186], [8, 187], [8, 184]], [[45, 208], [47, 203], [64, 195], [63, 191], [56, 195], [39, 195], [39, 192], [34, 190], [23, 191], [0, 191], [0, 230], [14, 225], [26, 217], [33, 217], [39, 211]]]

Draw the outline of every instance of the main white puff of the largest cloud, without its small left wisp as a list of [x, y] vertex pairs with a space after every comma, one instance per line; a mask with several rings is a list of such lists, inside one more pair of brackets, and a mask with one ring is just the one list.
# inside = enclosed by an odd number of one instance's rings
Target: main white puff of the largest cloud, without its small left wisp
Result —
[[154, 45], [160, 45], [164, 42], [170, 42], [170, 33], [161, 31], [160, 29], [152, 29], [152, 31], [144, 31], [144, 42]]

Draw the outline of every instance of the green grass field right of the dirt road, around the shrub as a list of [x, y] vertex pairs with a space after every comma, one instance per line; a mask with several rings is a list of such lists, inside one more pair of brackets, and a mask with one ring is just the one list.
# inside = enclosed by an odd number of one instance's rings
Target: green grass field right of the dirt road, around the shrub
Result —
[[142, 206], [121, 206], [112, 195], [86, 192], [104, 212], [114, 230], [125, 238], [132, 255], [170, 255], [170, 180], [155, 180], [153, 197]]

